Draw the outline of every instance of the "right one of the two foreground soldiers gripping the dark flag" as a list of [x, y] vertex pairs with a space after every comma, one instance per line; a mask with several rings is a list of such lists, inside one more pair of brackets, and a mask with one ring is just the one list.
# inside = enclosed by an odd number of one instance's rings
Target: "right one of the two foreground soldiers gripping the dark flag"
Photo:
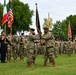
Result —
[[[42, 36], [42, 39], [45, 41], [46, 50], [44, 52], [44, 64], [43, 66], [47, 65], [47, 61], [49, 59], [50, 66], [55, 66], [55, 59], [54, 59], [54, 37], [51, 32], [49, 32], [49, 29], [46, 25], [43, 27], [44, 34]], [[43, 42], [42, 40], [42, 42]]]

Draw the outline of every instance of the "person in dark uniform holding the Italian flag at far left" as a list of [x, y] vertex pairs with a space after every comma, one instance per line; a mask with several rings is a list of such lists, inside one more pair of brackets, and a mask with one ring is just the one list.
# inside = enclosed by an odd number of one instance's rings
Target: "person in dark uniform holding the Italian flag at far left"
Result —
[[6, 60], [6, 53], [7, 53], [7, 44], [9, 43], [9, 41], [6, 38], [6, 34], [3, 31], [1, 33], [1, 63], [5, 63]]

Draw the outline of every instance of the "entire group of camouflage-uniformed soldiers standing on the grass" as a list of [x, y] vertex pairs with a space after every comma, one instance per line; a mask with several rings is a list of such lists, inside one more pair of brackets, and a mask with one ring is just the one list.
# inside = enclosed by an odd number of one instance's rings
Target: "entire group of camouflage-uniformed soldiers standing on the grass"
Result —
[[55, 39], [52, 32], [46, 25], [43, 26], [44, 34], [41, 34], [41, 39], [35, 34], [35, 29], [30, 28], [29, 35], [24, 36], [21, 33], [20, 36], [16, 32], [12, 35], [8, 34], [6, 37], [9, 41], [7, 44], [6, 60], [11, 62], [12, 58], [14, 62], [17, 62], [18, 58], [20, 61], [24, 61], [26, 57], [26, 63], [28, 67], [35, 65], [36, 57], [38, 54], [42, 54], [44, 57], [43, 66], [47, 66], [49, 60], [49, 66], [56, 66], [55, 58], [60, 54], [66, 54], [71, 56], [76, 53], [76, 39], [72, 42], [59, 41]]

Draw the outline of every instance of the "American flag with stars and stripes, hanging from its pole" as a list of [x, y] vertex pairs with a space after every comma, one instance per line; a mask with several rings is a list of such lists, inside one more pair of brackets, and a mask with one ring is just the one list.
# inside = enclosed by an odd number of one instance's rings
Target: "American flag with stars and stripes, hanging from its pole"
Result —
[[8, 27], [10, 28], [14, 22], [11, 1], [9, 0], [9, 11], [8, 11]]

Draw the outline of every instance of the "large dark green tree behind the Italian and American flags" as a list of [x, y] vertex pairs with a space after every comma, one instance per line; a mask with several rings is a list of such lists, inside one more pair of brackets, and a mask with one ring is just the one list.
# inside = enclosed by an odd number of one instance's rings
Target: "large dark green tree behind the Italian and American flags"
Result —
[[[12, 0], [12, 11], [14, 16], [14, 23], [12, 25], [12, 30], [14, 31], [28, 31], [29, 26], [32, 25], [32, 16], [33, 10], [30, 10], [28, 4], [24, 4], [19, 0]], [[9, 3], [7, 4], [7, 8], [9, 8]], [[3, 6], [0, 4], [0, 15], [2, 16]], [[1, 23], [1, 19], [0, 19]], [[1, 24], [0, 24], [1, 26]], [[7, 27], [7, 31], [10, 29]]]

